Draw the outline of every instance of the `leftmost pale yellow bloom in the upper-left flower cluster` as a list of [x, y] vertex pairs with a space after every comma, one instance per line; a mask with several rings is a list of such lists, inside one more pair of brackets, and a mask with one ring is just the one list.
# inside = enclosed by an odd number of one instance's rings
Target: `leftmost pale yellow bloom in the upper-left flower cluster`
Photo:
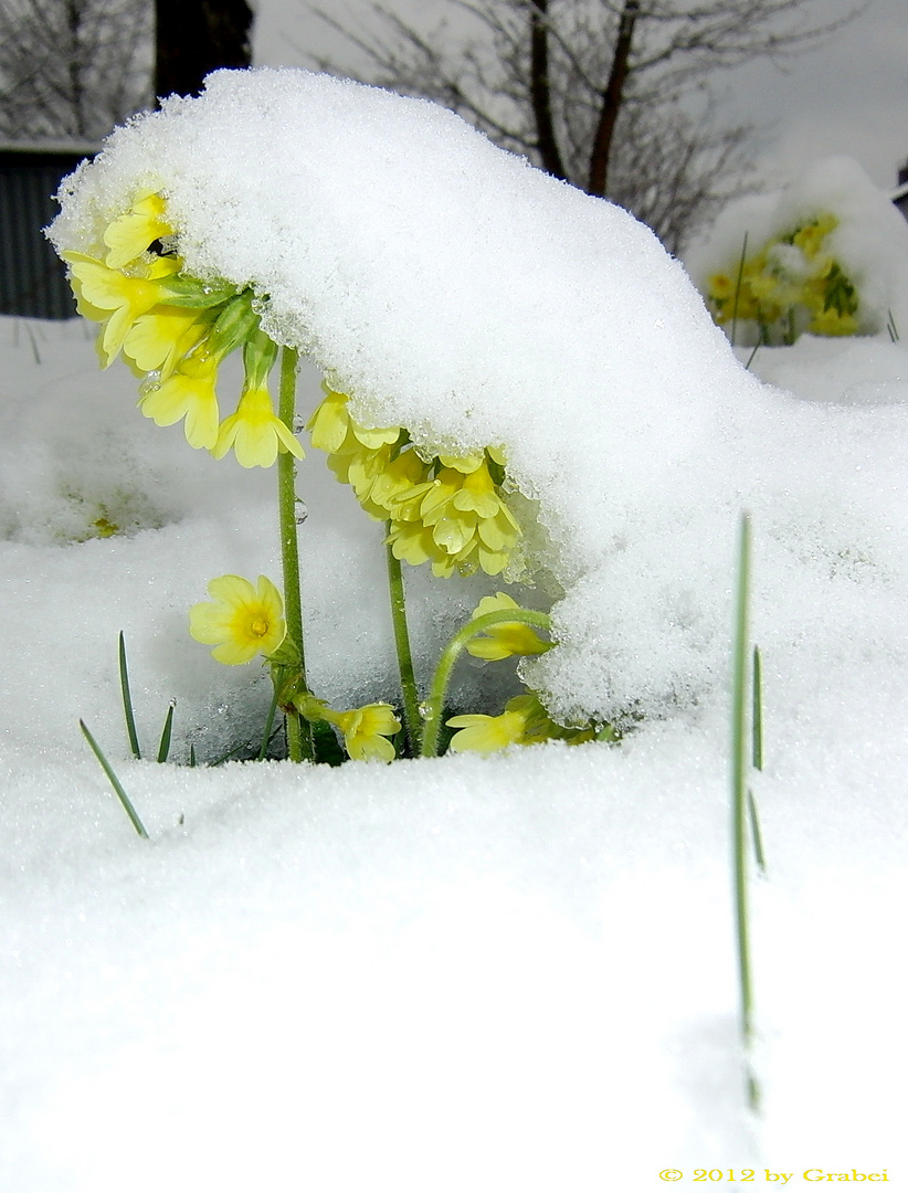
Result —
[[180, 261], [161, 256], [143, 271], [144, 276], [128, 277], [84, 253], [62, 256], [69, 265], [79, 314], [101, 324], [98, 354], [106, 369], [117, 358], [136, 320], [167, 301], [171, 291], [166, 279], [179, 271]]

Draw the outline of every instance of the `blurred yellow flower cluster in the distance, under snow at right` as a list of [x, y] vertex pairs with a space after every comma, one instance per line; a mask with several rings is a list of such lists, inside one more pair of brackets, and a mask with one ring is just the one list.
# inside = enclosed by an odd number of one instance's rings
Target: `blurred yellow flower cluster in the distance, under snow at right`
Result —
[[858, 292], [832, 255], [829, 214], [767, 240], [759, 252], [708, 282], [706, 299], [719, 324], [753, 321], [760, 344], [793, 344], [798, 335], [854, 335]]

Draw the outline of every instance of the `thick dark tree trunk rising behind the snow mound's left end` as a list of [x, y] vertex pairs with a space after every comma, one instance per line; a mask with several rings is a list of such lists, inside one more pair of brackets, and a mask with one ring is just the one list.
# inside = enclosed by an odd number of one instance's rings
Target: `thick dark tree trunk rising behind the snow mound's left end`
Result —
[[154, 93], [194, 95], [218, 67], [248, 67], [252, 10], [246, 0], [155, 0]]

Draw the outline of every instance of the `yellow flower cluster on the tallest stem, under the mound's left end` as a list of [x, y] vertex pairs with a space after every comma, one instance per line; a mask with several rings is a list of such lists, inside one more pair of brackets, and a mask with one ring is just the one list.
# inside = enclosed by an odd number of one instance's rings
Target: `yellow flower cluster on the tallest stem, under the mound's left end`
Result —
[[[100, 256], [62, 255], [80, 315], [101, 324], [101, 365], [122, 354], [143, 378], [142, 413], [157, 426], [185, 419], [192, 447], [206, 447], [218, 459], [233, 449], [243, 468], [267, 468], [279, 451], [302, 457], [272, 407], [267, 376], [277, 346], [259, 328], [252, 290], [183, 272], [177, 233], [157, 193], [140, 193], [105, 227], [101, 242]], [[217, 371], [240, 346], [246, 381], [235, 414], [222, 424]]]

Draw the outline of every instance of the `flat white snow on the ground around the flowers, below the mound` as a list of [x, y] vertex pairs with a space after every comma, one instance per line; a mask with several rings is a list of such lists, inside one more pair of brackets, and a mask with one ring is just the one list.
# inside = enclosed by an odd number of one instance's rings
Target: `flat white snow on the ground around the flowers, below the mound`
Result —
[[[91, 334], [0, 322], [0, 1189], [644, 1193], [665, 1169], [681, 1186], [722, 1169], [730, 1188], [746, 1167], [754, 1183], [854, 1170], [908, 1188], [900, 570], [887, 586], [879, 561], [807, 552], [802, 641], [766, 657], [753, 1120], [725, 681], [619, 748], [340, 769], [130, 761], [121, 629], [149, 750], [172, 697], [178, 761], [190, 738], [211, 758], [260, 724], [258, 665], [214, 663], [186, 608], [221, 573], [277, 576], [274, 477], [140, 418], [132, 378], [99, 373]], [[755, 369], [841, 420], [878, 489], [879, 542], [897, 545], [908, 351], [805, 339]], [[304, 407], [313, 378], [305, 391]], [[387, 694], [379, 527], [316, 452], [301, 476], [316, 687]], [[803, 477], [807, 493], [828, 482], [809, 456]], [[98, 518], [128, 533], [78, 542]], [[735, 530], [715, 526], [729, 589]], [[759, 608], [759, 515], [754, 531]], [[838, 595], [817, 607], [833, 571]], [[477, 596], [408, 576], [414, 607], [436, 592], [441, 626]], [[765, 610], [761, 628], [771, 638]]]

